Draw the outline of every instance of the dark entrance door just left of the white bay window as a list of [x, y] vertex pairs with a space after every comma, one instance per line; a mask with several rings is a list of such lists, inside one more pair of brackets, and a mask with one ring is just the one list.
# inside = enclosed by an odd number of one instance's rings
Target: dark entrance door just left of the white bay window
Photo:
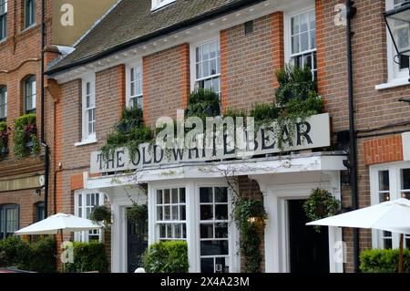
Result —
[[142, 254], [148, 247], [148, 227], [145, 222], [128, 223], [128, 273], [141, 266]]

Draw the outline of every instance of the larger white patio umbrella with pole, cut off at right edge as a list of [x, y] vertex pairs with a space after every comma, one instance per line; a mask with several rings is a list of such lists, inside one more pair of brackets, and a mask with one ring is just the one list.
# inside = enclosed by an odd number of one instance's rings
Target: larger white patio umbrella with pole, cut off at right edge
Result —
[[375, 204], [306, 224], [378, 229], [400, 234], [399, 272], [403, 272], [404, 234], [410, 234], [410, 201], [407, 199]]

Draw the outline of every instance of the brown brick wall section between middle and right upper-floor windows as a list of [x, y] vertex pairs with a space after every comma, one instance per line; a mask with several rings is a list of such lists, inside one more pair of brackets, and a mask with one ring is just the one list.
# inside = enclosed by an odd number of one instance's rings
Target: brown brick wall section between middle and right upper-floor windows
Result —
[[221, 33], [223, 110], [251, 109], [254, 103], [273, 100], [274, 25], [280, 25], [280, 17], [264, 16], [254, 20], [251, 34], [245, 35], [243, 24]]

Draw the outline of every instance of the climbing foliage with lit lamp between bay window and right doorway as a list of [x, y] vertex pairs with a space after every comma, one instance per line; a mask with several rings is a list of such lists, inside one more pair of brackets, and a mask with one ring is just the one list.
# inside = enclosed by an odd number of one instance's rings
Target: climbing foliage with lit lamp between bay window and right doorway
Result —
[[268, 214], [263, 202], [250, 198], [240, 198], [235, 203], [235, 221], [241, 233], [241, 254], [245, 258], [245, 272], [261, 272], [262, 255], [260, 245], [263, 239], [262, 231]]

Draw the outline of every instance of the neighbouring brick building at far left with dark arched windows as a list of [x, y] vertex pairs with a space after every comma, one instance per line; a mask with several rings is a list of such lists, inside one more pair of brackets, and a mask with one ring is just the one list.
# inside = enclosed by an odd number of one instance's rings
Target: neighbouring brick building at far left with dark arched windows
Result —
[[[46, 5], [46, 44], [51, 36], [51, 1]], [[45, 155], [16, 159], [15, 120], [36, 114], [41, 132], [41, 5], [37, 1], [0, 1], [0, 120], [10, 128], [7, 151], [0, 153], [0, 239], [45, 217]], [[56, 56], [47, 49], [46, 58]], [[48, 85], [46, 85], [48, 88]], [[48, 92], [48, 91], [47, 91]], [[46, 93], [45, 140], [54, 142], [53, 98]], [[51, 176], [51, 175], [50, 175]], [[50, 189], [52, 192], [52, 189]], [[53, 200], [48, 210], [53, 213]]]

